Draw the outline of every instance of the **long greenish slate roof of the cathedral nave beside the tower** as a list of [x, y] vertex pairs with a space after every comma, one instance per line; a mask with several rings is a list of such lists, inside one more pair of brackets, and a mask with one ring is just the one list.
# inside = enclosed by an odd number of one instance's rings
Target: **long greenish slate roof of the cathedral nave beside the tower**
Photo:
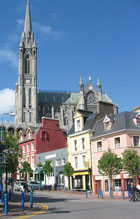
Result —
[[73, 103], [78, 101], [78, 93], [71, 92], [51, 92], [51, 91], [39, 91], [39, 102], [55, 102], [55, 103]]

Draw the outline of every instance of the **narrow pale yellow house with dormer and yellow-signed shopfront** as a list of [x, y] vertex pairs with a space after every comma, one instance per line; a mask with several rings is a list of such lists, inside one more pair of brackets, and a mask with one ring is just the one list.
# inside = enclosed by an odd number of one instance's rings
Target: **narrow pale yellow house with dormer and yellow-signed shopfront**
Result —
[[74, 116], [74, 126], [68, 135], [68, 161], [74, 168], [70, 178], [70, 188], [76, 190], [92, 189], [91, 129], [86, 126], [91, 112], [78, 110]]

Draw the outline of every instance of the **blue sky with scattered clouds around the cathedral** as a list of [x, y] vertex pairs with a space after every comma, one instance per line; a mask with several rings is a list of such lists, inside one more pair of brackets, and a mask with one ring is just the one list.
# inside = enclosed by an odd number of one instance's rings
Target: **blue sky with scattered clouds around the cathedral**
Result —
[[[118, 104], [140, 105], [139, 0], [30, 0], [38, 90], [78, 92], [80, 75]], [[14, 110], [26, 0], [1, 1], [0, 114]]]

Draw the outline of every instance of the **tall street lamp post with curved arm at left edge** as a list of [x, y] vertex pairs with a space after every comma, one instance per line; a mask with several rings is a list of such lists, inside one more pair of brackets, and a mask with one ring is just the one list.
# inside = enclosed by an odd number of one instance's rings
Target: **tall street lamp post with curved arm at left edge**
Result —
[[[3, 143], [3, 119], [5, 115], [9, 116], [15, 116], [15, 113], [3, 113], [2, 114], [2, 119], [1, 119], [1, 143]], [[1, 163], [3, 161], [3, 158], [1, 157]], [[2, 175], [3, 175], [3, 166], [1, 165], [1, 173], [0, 173], [0, 192], [1, 192], [1, 197], [0, 197], [0, 203], [3, 202], [3, 182], [2, 182]]]

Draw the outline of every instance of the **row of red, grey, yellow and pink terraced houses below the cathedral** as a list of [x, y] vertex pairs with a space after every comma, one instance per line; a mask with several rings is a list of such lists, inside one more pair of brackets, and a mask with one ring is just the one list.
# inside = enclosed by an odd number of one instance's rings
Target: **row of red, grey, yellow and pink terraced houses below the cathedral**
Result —
[[[63, 175], [63, 170], [64, 165], [70, 162], [74, 168], [70, 178], [71, 189], [92, 189], [94, 194], [102, 189], [108, 194], [109, 179], [99, 174], [98, 160], [109, 148], [122, 156], [125, 149], [133, 146], [140, 154], [139, 110], [137, 107], [132, 112], [114, 114], [113, 105], [104, 102], [98, 103], [97, 113], [78, 109], [67, 137], [59, 128], [58, 120], [43, 117], [40, 128], [29, 127], [25, 133], [20, 132], [22, 162], [30, 163], [33, 170], [31, 178], [38, 180], [40, 170], [37, 163], [44, 164], [46, 160], [51, 160], [54, 171], [46, 176], [47, 185], [55, 187], [59, 184], [61, 188], [68, 188], [68, 179]], [[113, 178], [116, 194], [121, 194], [122, 189], [127, 190], [129, 179], [126, 172]], [[43, 172], [41, 181], [45, 183]]]

